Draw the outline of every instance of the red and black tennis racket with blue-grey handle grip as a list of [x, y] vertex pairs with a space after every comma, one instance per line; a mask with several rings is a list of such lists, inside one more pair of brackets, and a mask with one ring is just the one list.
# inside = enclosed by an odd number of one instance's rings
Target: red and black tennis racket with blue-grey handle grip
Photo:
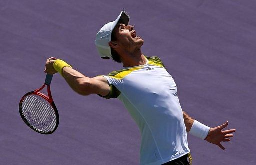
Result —
[[[53, 133], [59, 123], [58, 110], [50, 92], [52, 77], [53, 75], [47, 74], [43, 86], [26, 93], [19, 102], [19, 113], [23, 121], [31, 129], [41, 134]], [[48, 96], [39, 92], [46, 85]]]

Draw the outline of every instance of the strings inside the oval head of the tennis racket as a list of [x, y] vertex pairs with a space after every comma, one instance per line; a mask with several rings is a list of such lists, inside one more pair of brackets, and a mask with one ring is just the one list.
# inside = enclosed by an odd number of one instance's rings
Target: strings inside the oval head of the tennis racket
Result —
[[56, 127], [57, 119], [50, 103], [39, 95], [27, 95], [22, 102], [22, 113], [31, 126], [49, 132]]

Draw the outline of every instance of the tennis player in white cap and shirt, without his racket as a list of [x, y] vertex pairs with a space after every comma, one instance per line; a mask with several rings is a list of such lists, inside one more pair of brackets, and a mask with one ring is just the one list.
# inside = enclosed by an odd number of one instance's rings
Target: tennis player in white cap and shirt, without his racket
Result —
[[105, 24], [96, 35], [101, 58], [121, 62], [123, 68], [106, 76], [86, 77], [63, 60], [49, 58], [45, 72], [59, 72], [81, 95], [98, 94], [123, 102], [141, 132], [140, 164], [189, 164], [187, 133], [224, 149], [235, 129], [228, 122], [210, 128], [188, 116], [181, 108], [177, 86], [158, 57], [141, 52], [144, 40], [137, 36], [127, 12]]

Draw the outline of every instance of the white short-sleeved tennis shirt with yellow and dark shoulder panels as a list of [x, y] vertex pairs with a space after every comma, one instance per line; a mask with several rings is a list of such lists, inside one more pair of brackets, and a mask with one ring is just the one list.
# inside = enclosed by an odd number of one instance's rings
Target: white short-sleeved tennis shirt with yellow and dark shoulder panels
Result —
[[163, 164], [190, 152], [177, 86], [158, 57], [104, 76], [105, 98], [120, 99], [141, 132], [140, 164]]

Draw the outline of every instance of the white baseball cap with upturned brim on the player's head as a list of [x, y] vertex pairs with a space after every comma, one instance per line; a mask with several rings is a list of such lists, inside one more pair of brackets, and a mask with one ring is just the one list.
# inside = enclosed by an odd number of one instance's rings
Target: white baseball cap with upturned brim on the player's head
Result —
[[130, 22], [130, 16], [127, 12], [121, 11], [120, 15], [115, 21], [105, 24], [97, 33], [95, 44], [101, 58], [109, 57], [112, 58], [111, 48], [108, 45], [108, 42], [111, 41], [111, 35], [114, 27], [117, 23], [123, 23], [128, 25]]

